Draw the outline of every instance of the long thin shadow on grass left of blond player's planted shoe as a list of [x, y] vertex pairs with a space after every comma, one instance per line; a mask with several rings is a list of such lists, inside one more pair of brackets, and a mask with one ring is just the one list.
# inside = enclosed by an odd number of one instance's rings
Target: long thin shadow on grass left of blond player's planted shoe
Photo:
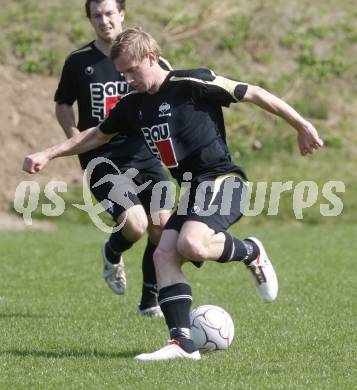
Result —
[[117, 359], [117, 358], [133, 358], [142, 351], [121, 351], [121, 352], [104, 352], [104, 351], [32, 351], [32, 350], [19, 350], [8, 349], [0, 350], [0, 355], [13, 355], [19, 357], [43, 357], [48, 359], [64, 359], [64, 358], [104, 358], [104, 359]]

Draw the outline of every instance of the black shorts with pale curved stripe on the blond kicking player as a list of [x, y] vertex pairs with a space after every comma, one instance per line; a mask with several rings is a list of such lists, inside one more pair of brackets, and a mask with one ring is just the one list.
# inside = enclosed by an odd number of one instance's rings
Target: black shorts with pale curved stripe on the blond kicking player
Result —
[[235, 173], [205, 181], [193, 180], [189, 193], [181, 197], [165, 230], [179, 232], [186, 221], [203, 222], [215, 232], [227, 230], [243, 215], [247, 188], [247, 183]]

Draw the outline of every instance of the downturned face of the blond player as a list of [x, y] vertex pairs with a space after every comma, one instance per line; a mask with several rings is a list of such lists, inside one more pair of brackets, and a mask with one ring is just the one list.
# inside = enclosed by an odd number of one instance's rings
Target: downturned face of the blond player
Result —
[[113, 61], [116, 69], [124, 75], [126, 82], [138, 92], [150, 92], [152, 86], [150, 56], [136, 61], [124, 53]]

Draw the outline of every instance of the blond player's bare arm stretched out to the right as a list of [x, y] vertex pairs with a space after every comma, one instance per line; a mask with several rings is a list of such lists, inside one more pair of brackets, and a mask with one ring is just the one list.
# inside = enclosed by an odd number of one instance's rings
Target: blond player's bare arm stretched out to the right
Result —
[[300, 153], [303, 156], [312, 153], [323, 145], [323, 141], [319, 137], [317, 130], [309, 121], [304, 119], [288, 103], [265, 89], [248, 85], [242, 101], [254, 103], [262, 109], [280, 116], [294, 127], [298, 131], [298, 145]]

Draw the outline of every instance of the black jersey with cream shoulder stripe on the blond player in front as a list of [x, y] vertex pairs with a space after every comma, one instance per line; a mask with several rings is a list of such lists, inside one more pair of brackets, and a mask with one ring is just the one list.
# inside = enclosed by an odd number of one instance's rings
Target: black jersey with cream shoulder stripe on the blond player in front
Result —
[[247, 84], [208, 69], [171, 71], [155, 94], [132, 92], [101, 123], [104, 133], [141, 134], [180, 182], [184, 172], [212, 177], [241, 168], [231, 159], [222, 106], [244, 97]]

